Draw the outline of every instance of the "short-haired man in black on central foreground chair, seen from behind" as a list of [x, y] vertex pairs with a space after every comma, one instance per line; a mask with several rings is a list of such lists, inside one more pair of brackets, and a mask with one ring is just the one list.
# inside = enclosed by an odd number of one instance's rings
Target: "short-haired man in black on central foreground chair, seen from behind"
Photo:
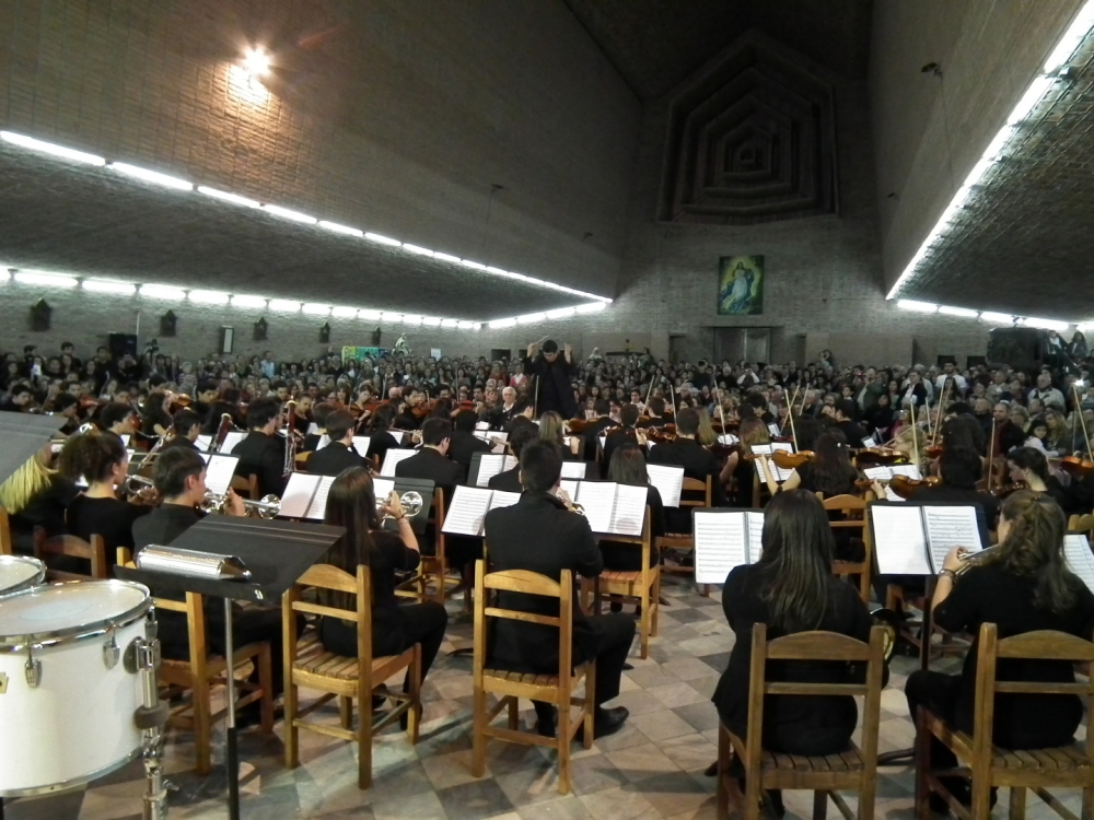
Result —
[[[529, 444], [521, 454], [524, 494], [509, 507], [486, 515], [486, 540], [490, 544], [490, 572], [528, 570], [558, 582], [562, 570], [594, 578], [604, 569], [604, 558], [584, 516], [567, 509], [557, 496], [562, 459], [550, 444]], [[501, 593], [498, 606], [558, 617], [558, 602], [549, 598]], [[635, 640], [629, 616], [585, 616], [573, 601], [573, 661], [596, 659], [597, 738], [617, 731], [627, 719], [625, 706], [605, 708], [619, 694], [619, 679]], [[509, 619], [496, 623], [489, 663], [497, 668], [536, 675], [558, 673], [558, 630]], [[539, 734], [555, 736], [554, 708], [533, 702]]]

